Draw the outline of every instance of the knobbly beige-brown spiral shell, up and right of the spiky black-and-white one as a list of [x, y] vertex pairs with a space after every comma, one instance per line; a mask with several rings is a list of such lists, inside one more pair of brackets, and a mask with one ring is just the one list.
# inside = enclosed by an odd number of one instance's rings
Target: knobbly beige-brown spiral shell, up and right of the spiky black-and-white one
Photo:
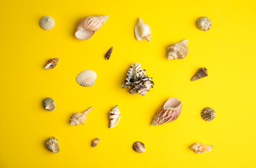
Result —
[[188, 39], [181, 41], [181, 43], [174, 43], [167, 48], [168, 60], [183, 59], [188, 56]]

